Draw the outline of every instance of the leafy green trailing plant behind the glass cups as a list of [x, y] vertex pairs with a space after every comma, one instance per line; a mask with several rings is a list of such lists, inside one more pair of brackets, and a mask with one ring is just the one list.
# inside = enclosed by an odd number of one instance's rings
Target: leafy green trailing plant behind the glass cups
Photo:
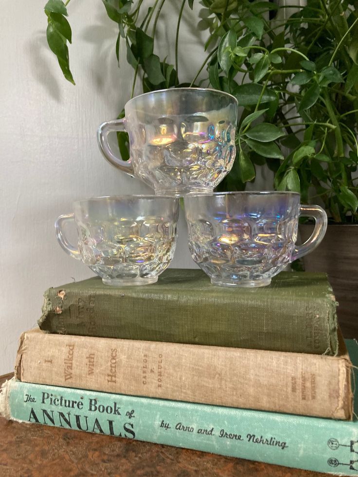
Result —
[[[73, 82], [67, 48], [71, 28], [65, 18], [69, 1], [50, 0], [45, 12], [48, 43]], [[357, 0], [307, 0], [285, 20], [280, 14], [292, 5], [284, 1], [277, 6], [260, 0], [201, 0], [200, 18], [192, 16], [207, 41], [199, 71], [185, 82], [178, 71], [179, 54], [184, 54], [179, 26], [193, 0], [180, 4], [172, 63], [154, 53], [165, 0], [153, 1], [145, 12], [143, 0], [103, 3], [118, 24], [117, 61], [124, 41], [134, 69], [132, 95], [140, 78], [143, 92], [204, 86], [237, 97], [242, 106], [237, 156], [220, 190], [242, 190], [257, 166], [268, 167], [275, 189], [298, 191], [304, 203], [321, 200], [335, 222], [358, 222]], [[125, 159], [125, 134], [119, 133], [118, 140]]]

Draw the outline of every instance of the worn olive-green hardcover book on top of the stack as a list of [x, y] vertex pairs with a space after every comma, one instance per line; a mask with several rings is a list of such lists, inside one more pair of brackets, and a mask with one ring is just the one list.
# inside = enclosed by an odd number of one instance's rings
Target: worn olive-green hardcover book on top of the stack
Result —
[[157, 283], [110, 287], [98, 277], [45, 292], [50, 333], [336, 354], [336, 300], [323, 273], [282, 272], [269, 286], [213, 286], [199, 269]]

